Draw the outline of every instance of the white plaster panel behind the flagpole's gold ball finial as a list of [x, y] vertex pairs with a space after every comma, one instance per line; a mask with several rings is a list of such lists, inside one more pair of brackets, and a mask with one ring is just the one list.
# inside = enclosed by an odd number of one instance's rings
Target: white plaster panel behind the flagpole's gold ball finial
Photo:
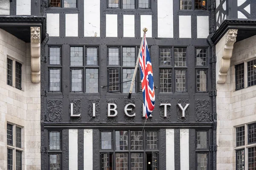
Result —
[[143, 28], [148, 28], [146, 37], [152, 37], [152, 15], [140, 15], [140, 37], [143, 37]]

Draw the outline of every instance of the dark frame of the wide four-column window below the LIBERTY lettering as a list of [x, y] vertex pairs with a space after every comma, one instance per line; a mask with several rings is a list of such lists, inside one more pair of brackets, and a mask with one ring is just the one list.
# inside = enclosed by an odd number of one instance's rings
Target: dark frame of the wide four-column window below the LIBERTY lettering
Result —
[[[120, 130], [100, 130], [100, 142], [99, 142], [99, 159], [100, 159], [100, 168], [102, 170], [102, 155], [103, 154], [108, 154], [108, 160], [110, 160], [110, 156], [111, 159], [112, 159], [112, 169], [115, 168], [115, 161], [116, 161], [116, 153], [128, 153], [128, 169], [131, 168], [131, 153], [143, 153], [143, 165], [145, 165], [146, 163], [146, 157], [147, 157], [147, 154], [151, 154], [152, 158], [153, 158], [153, 153], [157, 153], [158, 154], [158, 160], [160, 159], [159, 158], [159, 155], [160, 155], [160, 144], [159, 144], [159, 138], [160, 138], [160, 130], [159, 129], [151, 129], [151, 130], [143, 130], [142, 132], [142, 138], [143, 138], [143, 150], [132, 150], [131, 148], [131, 131], [139, 131], [141, 133], [141, 130], [137, 130], [137, 129], [122, 129], [124, 131], [128, 131], [128, 139], [127, 139], [127, 142], [128, 142], [128, 150], [116, 150], [116, 141], [115, 141], [115, 132], [116, 131], [120, 131]], [[147, 149], [147, 146], [146, 146], [146, 132], [148, 131], [156, 131], [157, 132], [157, 149]], [[111, 132], [111, 141], [112, 141], [112, 149], [101, 149], [101, 132]], [[140, 135], [140, 134], [139, 134]], [[153, 163], [153, 161], [151, 162]], [[108, 166], [110, 164], [110, 161], [108, 161]], [[159, 167], [159, 161], [157, 162], [157, 166]]]

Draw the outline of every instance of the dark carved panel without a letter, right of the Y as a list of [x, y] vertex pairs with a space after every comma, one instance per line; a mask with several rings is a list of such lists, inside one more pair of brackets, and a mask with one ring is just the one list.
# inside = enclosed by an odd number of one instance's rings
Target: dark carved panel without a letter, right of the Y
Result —
[[195, 99], [195, 121], [210, 122], [209, 99]]

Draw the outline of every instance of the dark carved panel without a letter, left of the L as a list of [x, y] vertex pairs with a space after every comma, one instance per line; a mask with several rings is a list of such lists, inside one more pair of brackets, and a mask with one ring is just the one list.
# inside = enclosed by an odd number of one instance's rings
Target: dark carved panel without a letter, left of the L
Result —
[[47, 99], [47, 122], [62, 122], [62, 99]]

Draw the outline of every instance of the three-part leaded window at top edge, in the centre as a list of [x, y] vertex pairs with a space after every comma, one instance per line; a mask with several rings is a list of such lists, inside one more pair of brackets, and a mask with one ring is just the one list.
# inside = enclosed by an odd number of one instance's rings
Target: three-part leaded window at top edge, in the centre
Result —
[[108, 8], [148, 9], [150, 0], [108, 0]]

